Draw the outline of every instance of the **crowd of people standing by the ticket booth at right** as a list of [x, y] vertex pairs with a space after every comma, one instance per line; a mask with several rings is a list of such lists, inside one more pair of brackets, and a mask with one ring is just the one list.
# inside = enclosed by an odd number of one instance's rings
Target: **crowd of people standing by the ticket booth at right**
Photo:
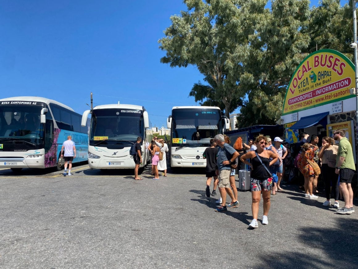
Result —
[[[216, 212], [226, 211], [228, 207], [238, 207], [237, 188], [235, 185], [236, 170], [243, 170], [245, 165], [251, 170], [250, 189], [252, 193], [253, 220], [249, 227], [257, 228], [257, 217], [261, 194], [263, 198], [262, 224], [268, 224], [267, 215], [270, 209], [270, 193], [276, 195], [283, 189], [280, 186], [287, 169], [294, 171], [289, 173], [296, 175], [300, 181], [300, 189], [308, 199], [317, 199], [316, 195], [318, 178], [324, 181], [326, 201], [323, 206], [330, 206], [331, 195], [334, 199], [333, 207], [339, 214], [350, 214], [353, 208], [352, 179], [355, 173], [352, 147], [345, 137], [344, 130], [336, 130], [332, 137], [323, 137], [322, 146], [318, 147], [319, 138], [300, 133], [300, 141], [294, 148], [284, 142], [280, 137], [271, 138], [263, 135], [250, 140], [248, 145], [238, 137], [233, 147], [229, 144], [229, 137], [216, 135], [210, 140], [211, 146], [206, 148], [203, 157], [207, 160], [206, 189], [207, 197], [216, 195], [219, 188], [221, 197], [216, 203], [221, 204]], [[338, 141], [339, 145], [335, 145]], [[296, 171], [296, 173], [295, 173]], [[213, 191], [210, 192], [212, 178], [214, 179]], [[301, 178], [303, 178], [301, 183]], [[287, 178], [292, 180], [292, 178]], [[342, 193], [345, 205], [339, 208], [339, 193]], [[231, 203], [226, 205], [226, 194], [231, 198]]]

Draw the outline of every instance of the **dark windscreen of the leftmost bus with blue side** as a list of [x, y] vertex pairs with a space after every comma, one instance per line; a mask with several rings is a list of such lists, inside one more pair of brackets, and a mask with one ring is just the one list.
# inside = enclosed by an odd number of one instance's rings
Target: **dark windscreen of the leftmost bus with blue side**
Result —
[[[23, 149], [42, 145], [44, 124], [40, 123], [42, 106], [1, 105], [0, 143], [23, 144]], [[17, 146], [18, 147], [18, 146]]]

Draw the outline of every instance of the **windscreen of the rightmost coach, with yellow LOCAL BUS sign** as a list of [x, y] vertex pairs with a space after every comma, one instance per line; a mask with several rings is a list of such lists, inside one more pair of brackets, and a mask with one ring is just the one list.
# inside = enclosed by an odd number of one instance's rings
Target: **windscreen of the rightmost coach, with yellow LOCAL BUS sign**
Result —
[[208, 146], [222, 129], [218, 109], [173, 109], [172, 146]]

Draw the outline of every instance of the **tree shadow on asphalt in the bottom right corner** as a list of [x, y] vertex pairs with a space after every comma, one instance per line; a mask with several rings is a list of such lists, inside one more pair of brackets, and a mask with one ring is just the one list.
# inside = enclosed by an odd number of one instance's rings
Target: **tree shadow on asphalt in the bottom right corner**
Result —
[[[294, 249], [272, 249], [272, 255], [260, 255], [258, 260], [263, 262], [261, 266], [257, 264], [257, 268], [357, 268], [357, 226], [358, 220], [343, 217], [337, 220], [335, 229], [302, 227], [299, 237], [307, 246], [307, 255]], [[325, 253], [328, 260], [316, 256], [315, 252]]]

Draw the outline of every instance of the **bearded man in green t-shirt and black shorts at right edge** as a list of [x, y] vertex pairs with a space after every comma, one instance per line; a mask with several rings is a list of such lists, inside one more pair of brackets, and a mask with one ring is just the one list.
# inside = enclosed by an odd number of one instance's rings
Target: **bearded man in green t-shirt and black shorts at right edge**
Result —
[[344, 197], [344, 207], [337, 210], [339, 214], [350, 214], [353, 208], [353, 190], [351, 187], [355, 173], [352, 146], [345, 137], [345, 131], [338, 129], [333, 133], [334, 140], [339, 141], [335, 173], [339, 174], [339, 189]]

